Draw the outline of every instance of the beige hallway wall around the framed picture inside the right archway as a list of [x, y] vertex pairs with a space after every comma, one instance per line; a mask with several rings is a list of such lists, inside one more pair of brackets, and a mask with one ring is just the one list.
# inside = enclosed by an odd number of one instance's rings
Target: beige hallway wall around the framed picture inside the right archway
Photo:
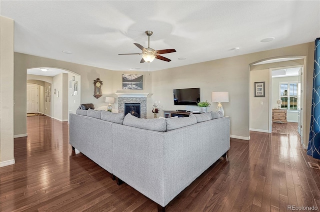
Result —
[[[305, 57], [304, 56], [286, 56], [286, 57], [273, 57], [267, 58], [263, 60], [256, 61], [250, 65], [250, 73], [249, 73], [249, 129], [251, 131], [259, 131], [259, 132], [271, 132], [272, 129], [272, 108], [276, 107], [274, 105], [274, 98], [272, 98], [272, 70], [275, 69], [287, 69], [293, 67], [300, 67], [300, 70], [304, 69]], [[254, 82], [263, 81], [265, 82], [265, 96], [263, 97], [254, 97]], [[298, 82], [299, 81], [299, 82]], [[304, 79], [302, 78], [302, 74], [297, 76], [296, 85], [299, 84], [301, 92], [301, 96], [299, 96], [299, 100], [301, 101], [299, 104], [300, 108], [303, 108], [305, 105], [303, 102], [303, 93], [305, 89], [303, 87]], [[274, 86], [274, 85], [273, 85]], [[273, 94], [275, 95], [275, 94]], [[275, 99], [281, 98], [277, 96]], [[300, 122], [298, 124], [299, 128], [303, 128], [303, 110], [300, 112]], [[290, 108], [289, 108], [290, 109]], [[292, 110], [288, 110], [292, 112]], [[296, 129], [298, 131], [298, 128]], [[300, 129], [301, 130], [301, 129]], [[302, 130], [301, 130], [302, 132]], [[303, 134], [301, 133], [301, 143], [303, 142]], [[305, 148], [305, 146], [303, 145]]]

